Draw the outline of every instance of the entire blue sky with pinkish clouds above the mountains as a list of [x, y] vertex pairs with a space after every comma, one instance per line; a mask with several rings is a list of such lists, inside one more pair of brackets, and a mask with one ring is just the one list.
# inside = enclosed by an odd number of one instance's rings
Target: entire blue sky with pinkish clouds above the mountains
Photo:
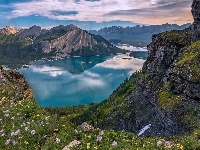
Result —
[[191, 23], [192, 0], [0, 0], [0, 28], [7, 24], [83, 29], [135, 24]]

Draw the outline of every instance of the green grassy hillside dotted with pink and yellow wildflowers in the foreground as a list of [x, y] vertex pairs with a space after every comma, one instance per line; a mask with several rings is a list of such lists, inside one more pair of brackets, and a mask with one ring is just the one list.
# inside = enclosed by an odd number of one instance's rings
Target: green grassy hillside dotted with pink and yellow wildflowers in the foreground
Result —
[[[63, 149], [73, 140], [79, 145], [72, 149], [199, 149], [200, 130], [177, 137], [138, 137], [124, 131], [90, 128], [84, 131], [80, 124], [72, 120], [88, 114], [93, 105], [66, 108], [41, 108], [33, 98], [24, 77], [15, 71], [4, 71], [5, 78], [0, 81], [0, 149]], [[123, 97], [135, 89], [135, 79], [141, 72], [127, 79], [110, 98], [98, 104], [101, 113], [123, 108]], [[113, 104], [113, 102], [115, 104]], [[100, 112], [101, 111], [101, 112]], [[92, 113], [91, 113], [92, 114]], [[89, 115], [89, 114], [88, 114]], [[77, 120], [79, 122], [79, 120]], [[91, 123], [94, 118], [91, 119]], [[89, 129], [89, 128], [88, 128]]]

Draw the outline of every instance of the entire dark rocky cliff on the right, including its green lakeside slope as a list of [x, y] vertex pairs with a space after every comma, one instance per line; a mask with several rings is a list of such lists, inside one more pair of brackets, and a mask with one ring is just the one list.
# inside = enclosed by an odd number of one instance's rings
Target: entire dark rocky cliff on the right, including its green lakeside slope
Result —
[[194, 23], [189, 28], [153, 35], [142, 70], [79, 119], [90, 118], [98, 127], [136, 134], [148, 125], [146, 136], [172, 136], [198, 128], [199, 12], [200, 3], [194, 0]]

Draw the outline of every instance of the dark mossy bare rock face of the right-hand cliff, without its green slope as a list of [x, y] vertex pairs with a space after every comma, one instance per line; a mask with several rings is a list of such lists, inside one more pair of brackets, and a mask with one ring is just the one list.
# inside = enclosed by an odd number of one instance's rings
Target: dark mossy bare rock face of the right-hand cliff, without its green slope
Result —
[[[152, 37], [143, 76], [138, 78], [137, 90], [130, 97], [135, 105], [134, 118], [130, 119], [135, 123], [128, 121], [127, 126], [132, 127], [128, 130], [138, 132], [139, 125], [152, 124], [144, 135], [170, 136], [199, 126], [200, 38], [198, 28], [193, 28], [200, 25], [199, 1], [193, 1], [192, 12], [191, 27]], [[139, 108], [144, 110], [140, 115]]]

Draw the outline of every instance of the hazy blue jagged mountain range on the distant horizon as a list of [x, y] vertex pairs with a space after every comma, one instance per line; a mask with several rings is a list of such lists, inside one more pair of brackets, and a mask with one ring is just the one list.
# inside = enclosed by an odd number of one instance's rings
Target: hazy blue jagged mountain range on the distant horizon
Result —
[[130, 44], [137, 47], [146, 47], [151, 42], [151, 37], [154, 34], [158, 34], [164, 31], [170, 30], [183, 30], [189, 27], [191, 24], [162, 24], [162, 25], [149, 25], [134, 27], [121, 27], [112, 26], [105, 27], [100, 30], [90, 30], [89, 32], [96, 35], [101, 35], [106, 40], [114, 44]]

